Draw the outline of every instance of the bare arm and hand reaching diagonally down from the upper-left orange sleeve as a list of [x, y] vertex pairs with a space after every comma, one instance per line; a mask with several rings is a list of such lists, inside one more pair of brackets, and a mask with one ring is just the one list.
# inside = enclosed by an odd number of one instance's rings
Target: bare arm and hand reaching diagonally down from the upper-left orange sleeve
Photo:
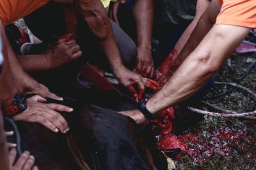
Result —
[[97, 37], [103, 52], [108, 57], [111, 69], [119, 83], [127, 87], [132, 93], [134, 91], [131, 87], [134, 87], [135, 84], [138, 85], [140, 92], [137, 92], [134, 96], [138, 96], [138, 94], [144, 92], [145, 87], [141, 76], [129, 71], [122, 63], [111, 24], [102, 3], [99, 0], [93, 0], [90, 3], [79, 1], [79, 7], [84, 20]]

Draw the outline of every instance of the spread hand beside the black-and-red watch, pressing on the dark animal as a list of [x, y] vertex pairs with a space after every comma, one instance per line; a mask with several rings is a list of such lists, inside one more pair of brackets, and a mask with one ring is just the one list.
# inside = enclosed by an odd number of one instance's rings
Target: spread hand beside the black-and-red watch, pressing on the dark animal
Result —
[[69, 131], [68, 123], [57, 111], [72, 112], [73, 109], [61, 104], [44, 103], [46, 99], [38, 95], [27, 99], [28, 108], [15, 115], [13, 120], [36, 122], [51, 129], [53, 132], [66, 133]]

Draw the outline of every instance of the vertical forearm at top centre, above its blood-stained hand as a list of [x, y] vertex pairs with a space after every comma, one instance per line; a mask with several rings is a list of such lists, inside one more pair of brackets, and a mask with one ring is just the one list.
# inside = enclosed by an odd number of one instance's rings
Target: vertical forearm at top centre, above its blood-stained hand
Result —
[[136, 0], [133, 6], [138, 49], [151, 50], [154, 4], [152, 0]]

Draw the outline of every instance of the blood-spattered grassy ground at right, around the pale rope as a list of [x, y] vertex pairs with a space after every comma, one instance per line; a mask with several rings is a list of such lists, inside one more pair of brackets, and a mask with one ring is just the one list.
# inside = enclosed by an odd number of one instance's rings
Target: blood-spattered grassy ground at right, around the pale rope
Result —
[[[234, 53], [216, 75], [216, 81], [234, 82], [256, 91], [256, 67], [241, 76], [256, 60], [256, 53]], [[209, 96], [215, 96], [230, 87], [214, 86]], [[242, 90], [232, 90], [216, 99], [206, 100], [227, 110], [244, 113], [256, 110], [256, 99]], [[204, 108], [209, 110], [208, 108]], [[214, 111], [214, 110], [209, 110]], [[177, 169], [256, 169], [256, 124], [245, 118], [205, 116], [204, 120], [189, 127], [184, 134], [193, 134], [189, 139], [189, 151], [177, 162]]]

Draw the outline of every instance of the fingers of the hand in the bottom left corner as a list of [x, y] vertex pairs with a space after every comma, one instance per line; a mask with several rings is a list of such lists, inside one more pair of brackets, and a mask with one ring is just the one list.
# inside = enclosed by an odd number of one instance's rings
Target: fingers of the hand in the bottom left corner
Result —
[[9, 152], [10, 170], [38, 170], [37, 166], [33, 166], [35, 164], [35, 157], [30, 155], [29, 152], [23, 152], [15, 162], [16, 156], [17, 151], [15, 148], [12, 148]]

